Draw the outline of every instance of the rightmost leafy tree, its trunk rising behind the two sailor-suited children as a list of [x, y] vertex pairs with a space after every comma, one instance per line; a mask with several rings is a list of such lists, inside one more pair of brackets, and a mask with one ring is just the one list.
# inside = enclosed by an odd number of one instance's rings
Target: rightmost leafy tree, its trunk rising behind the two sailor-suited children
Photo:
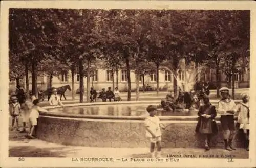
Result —
[[226, 14], [227, 22], [224, 30], [227, 32], [226, 48], [222, 60], [222, 68], [231, 81], [232, 99], [234, 99], [234, 80], [236, 73], [243, 71], [244, 58], [249, 57], [250, 21], [249, 11], [231, 11]]

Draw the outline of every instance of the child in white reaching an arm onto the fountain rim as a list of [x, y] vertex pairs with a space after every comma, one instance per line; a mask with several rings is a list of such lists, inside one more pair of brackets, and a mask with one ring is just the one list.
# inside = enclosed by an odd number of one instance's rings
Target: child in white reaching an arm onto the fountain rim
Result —
[[32, 136], [35, 127], [37, 126], [37, 119], [39, 118], [39, 111], [42, 112], [48, 112], [46, 109], [43, 109], [41, 107], [39, 107], [37, 104], [39, 103], [38, 99], [35, 99], [33, 101], [33, 107], [31, 109], [31, 113], [29, 115], [29, 121], [30, 121], [30, 132], [29, 132], [29, 136], [28, 138], [33, 139], [34, 137]]

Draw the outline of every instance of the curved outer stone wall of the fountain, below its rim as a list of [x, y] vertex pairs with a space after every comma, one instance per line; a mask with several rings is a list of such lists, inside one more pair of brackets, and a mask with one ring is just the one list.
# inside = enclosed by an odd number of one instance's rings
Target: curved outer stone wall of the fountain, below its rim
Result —
[[[161, 121], [163, 148], [204, 147], [201, 135], [195, 133], [197, 121]], [[222, 129], [217, 121], [219, 133], [212, 138], [211, 146], [223, 148]], [[238, 130], [238, 129], [237, 129]], [[90, 147], [148, 147], [150, 141], [145, 137], [142, 120], [87, 119], [57, 116], [40, 116], [37, 137], [53, 143]], [[235, 147], [243, 147], [242, 138], [237, 131]]]

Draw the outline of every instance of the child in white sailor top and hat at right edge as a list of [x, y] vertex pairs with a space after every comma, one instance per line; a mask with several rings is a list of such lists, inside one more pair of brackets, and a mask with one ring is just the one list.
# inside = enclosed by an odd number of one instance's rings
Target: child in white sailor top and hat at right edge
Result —
[[239, 128], [243, 130], [245, 135], [245, 146], [246, 150], [249, 151], [249, 94], [242, 94], [242, 101], [237, 105], [238, 108], [238, 123], [240, 123]]

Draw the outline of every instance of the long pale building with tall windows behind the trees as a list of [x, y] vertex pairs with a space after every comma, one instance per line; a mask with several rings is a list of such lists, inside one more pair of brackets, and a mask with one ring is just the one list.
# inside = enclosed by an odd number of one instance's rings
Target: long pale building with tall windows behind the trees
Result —
[[[189, 77], [191, 69], [185, 69], [184, 68], [184, 60], [181, 60], [181, 70], [179, 70], [177, 74], [177, 85], [182, 87], [182, 83], [186, 82], [186, 78]], [[99, 63], [99, 64], [102, 64]], [[102, 68], [101, 65], [97, 66], [101, 67], [98, 69], [95, 69], [93, 72], [92, 77], [90, 77], [90, 87], [94, 87], [96, 90], [101, 90], [102, 88], [107, 89], [108, 87], [112, 87], [112, 81], [114, 78], [114, 86], [116, 87], [116, 81], [118, 79], [118, 88], [120, 91], [127, 91], [128, 85], [127, 85], [127, 71], [125, 68], [118, 71], [118, 78], [116, 76], [116, 73], [114, 73], [114, 76], [112, 76], [110, 69]], [[193, 67], [194, 68], [194, 67]], [[186, 75], [185, 75], [186, 72]], [[216, 71], [215, 69], [209, 69], [206, 68], [202, 73], [204, 73], [201, 76], [200, 81], [202, 82], [209, 82], [210, 88], [215, 89], [217, 86], [216, 82]], [[186, 77], [186, 78], [185, 78]], [[231, 83], [228, 81], [228, 78], [224, 73], [220, 73], [220, 79], [221, 79], [221, 86], [227, 86], [230, 87]], [[49, 87], [49, 81], [50, 78], [45, 76], [44, 74], [40, 73], [40, 69], [38, 69], [38, 88], [40, 90], [46, 90]], [[139, 76], [139, 86], [143, 87], [143, 76]], [[156, 79], [156, 73], [151, 73], [144, 76], [144, 83], [145, 86], [149, 85], [153, 89], [157, 86], [157, 79]], [[87, 87], [87, 79], [84, 77], [84, 88]], [[174, 81], [174, 75], [171, 70], [167, 69], [160, 69], [159, 70], [159, 90], [167, 90], [167, 89], [173, 89], [173, 81]], [[31, 90], [32, 88], [32, 76], [29, 75], [29, 88]], [[52, 78], [52, 86], [53, 87], [60, 87], [63, 85], [71, 85], [71, 71], [61, 71], [61, 74], [58, 77]], [[22, 85], [23, 88], [25, 87], [25, 79], [20, 81], [20, 85]], [[79, 89], [79, 74], [75, 74], [74, 76], [74, 85], [75, 85], [75, 91]], [[131, 70], [131, 85], [132, 90], [136, 90], [136, 74], [134, 70]], [[16, 81], [15, 79], [10, 80], [9, 82], [10, 90], [16, 89]], [[244, 71], [244, 73], [237, 73], [235, 76], [235, 88], [248, 88], [249, 87], [249, 70]], [[113, 89], [113, 88], [112, 88]]]

